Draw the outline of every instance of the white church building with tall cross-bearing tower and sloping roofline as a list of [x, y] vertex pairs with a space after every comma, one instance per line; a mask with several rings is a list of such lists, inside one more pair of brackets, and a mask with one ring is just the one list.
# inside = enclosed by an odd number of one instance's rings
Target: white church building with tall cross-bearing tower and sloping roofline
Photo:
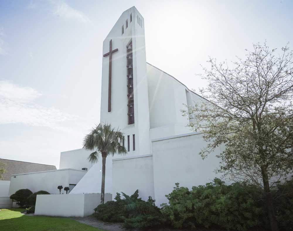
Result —
[[[212, 181], [219, 160], [215, 155], [201, 159], [198, 153], [207, 145], [203, 134], [191, 132], [186, 126], [189, 119], [180, 112], [186, 109], [184, 105], [206, 99], [147, 63], [144, 25], [144, 18], [134, 6], [124, 11], [106, 36], [100, 54], [103, 55], [100, 123], [120, 128], [128, 151], [125, 156], [107, 157], [105, 193], [114, 198], [117, 192], [130, 195], [138, 189], [142, 199], [151, 196], [159, 206], [168, 202], [165, 195], [176, 182], [191, 189]], [[83, 149], [61, 153], [60, 169], [75, 169], [68, 176], [80, 177], [76, 183], [70, 180], [64, 183], [76, 185], [69, 195], [62, 196], [100, 193], [102, 163], [91, 166], [86, 160], [89, 153]], [[20, 176], [12, 178], [11, 185]], [[54, 193], [59, 193], [56, 184], [54, 188]], [[49, 196], [52, 195], [38, 196], [36, 212], [40, 208], [38, 201]]]

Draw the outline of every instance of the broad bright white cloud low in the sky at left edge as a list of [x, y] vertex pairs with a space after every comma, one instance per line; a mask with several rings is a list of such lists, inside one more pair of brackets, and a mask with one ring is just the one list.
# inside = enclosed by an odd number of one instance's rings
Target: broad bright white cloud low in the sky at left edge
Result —
[[58, 123], [76, 119], [57, 108], [34, 103], [40, 96], [42, 94], [33, 88], [0, 81], [0, 124], [21, 123], [62, 130]]

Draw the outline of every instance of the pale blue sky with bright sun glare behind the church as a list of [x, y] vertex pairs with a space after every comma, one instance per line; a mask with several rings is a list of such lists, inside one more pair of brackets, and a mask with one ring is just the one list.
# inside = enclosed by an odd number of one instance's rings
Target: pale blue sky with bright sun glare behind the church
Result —
[[209, 56], [293, 47], [293, 1], [0, 0], [0, 158], [59, 168], [82, 147], [100, 121], [103, 40], [132, 6], [147, 62], [195, 91]]

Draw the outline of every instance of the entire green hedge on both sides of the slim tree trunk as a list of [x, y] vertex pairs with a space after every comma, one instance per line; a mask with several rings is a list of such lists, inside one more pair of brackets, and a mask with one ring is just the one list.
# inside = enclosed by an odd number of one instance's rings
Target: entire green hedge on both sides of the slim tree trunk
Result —
[[[271, 189], [280, 230], [293, 230], [293, 181]], [[228, 230], [270, 229], [265, 195], [254, 185], [224, 185], [219, 179], [188, 190], [176, 183], [162, 213], [174, 228], [221, 227]]]

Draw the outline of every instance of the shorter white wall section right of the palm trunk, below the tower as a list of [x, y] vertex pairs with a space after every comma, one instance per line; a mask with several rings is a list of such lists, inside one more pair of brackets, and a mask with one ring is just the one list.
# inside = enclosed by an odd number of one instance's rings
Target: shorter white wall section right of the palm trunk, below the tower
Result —
[[132, 195], [137, 189], [143, 200], [154, 198], [153, 157], [113, 159], [113, 199], [116, 193]]

